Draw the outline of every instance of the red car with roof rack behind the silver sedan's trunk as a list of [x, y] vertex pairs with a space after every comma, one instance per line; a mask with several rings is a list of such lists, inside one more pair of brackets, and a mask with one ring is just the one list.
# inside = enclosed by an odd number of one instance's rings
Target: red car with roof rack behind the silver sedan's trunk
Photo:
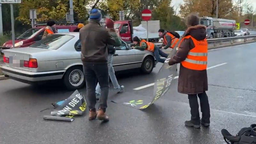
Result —
[[[36, 41], [39, 41], [42, 39], [42, 36], [44, 34], [44, 29], [46, 27], [46, 22], [39, 22], [36, 24], [35, 28], [30, 28], [17, 38], [15, 38], [15, 48], [18, 47], [27, 47], [31, 44], [34, 44]], [[73, 32], [77, 26], [76, 24], [63, 24], [56, 22], [55, 26], [58, 33], [61, 32]], [[12, 48], [12, 40], [9, 40], [4, 43], [4, 45], [0, 48], [2, 49], [10, 49]]]

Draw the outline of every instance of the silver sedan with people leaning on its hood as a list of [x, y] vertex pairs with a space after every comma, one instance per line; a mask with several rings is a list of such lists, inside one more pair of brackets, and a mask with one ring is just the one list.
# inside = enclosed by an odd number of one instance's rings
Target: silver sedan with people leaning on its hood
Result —
[[[62, 80], [69, 90], [85, 84], [79, 33], [53, 34], [29, 47], [8, 49], [3, 53], [2, 72], [14, 80], [27, 84]], [[149, 74], [155, 66], [152, 52], [131, 49], [124, 41], [116, 47], [113, 57], [116, 72], [140, 68]]]

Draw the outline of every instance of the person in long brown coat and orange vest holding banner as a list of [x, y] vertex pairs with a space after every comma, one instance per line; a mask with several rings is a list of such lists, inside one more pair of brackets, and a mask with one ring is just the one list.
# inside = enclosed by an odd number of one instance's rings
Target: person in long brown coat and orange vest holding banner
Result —
[[[177, 54], [168, 62], [169, 65], [180, 63], [178, 92], [188, 94], [191, 108], [191, 120], [185, 121], [186, 126], [200, 128], [200, 123], [210, 126], [210, 106], [207, 82], [207, 49], [206, 27], [199, 25], [199, 17], [190, 14], [187, 19], [188, 29], [180, 42]], [[200, 120], [197, 96], [200, 99], [202, 119]]]

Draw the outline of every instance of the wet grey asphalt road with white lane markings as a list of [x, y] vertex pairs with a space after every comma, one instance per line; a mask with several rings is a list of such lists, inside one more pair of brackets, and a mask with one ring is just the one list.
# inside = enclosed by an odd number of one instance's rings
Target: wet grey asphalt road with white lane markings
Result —
[[[177, 92], [177, 79], [171, 89], [146, 110], [108, 102], [108, 123], [88, 121], [85, 116], [73, 122], [45, 121], [51, 103], [72, 92], [51, 84], [36, 88], [14, 80], [0, 81], [1, 144], [224, 144], [220, 130], [236, 134], [256, 123], [255, 44], [212, 50], [208, 56], [207, 92], [211, 107], [210, 128], [184, 126], [190, 118], [187, 95]], [[109, 100], [140, 95], [152, 97], [153, 82], [161, 64], [149, 75], [137, 72], [118, 76], [125, 92], [109, 93]], [[111, 89], [113, 89], [111, 87]], [[134, 90], [137, 89], [137, 90]], [[80, 90], [85, 93], [85, 88]]]

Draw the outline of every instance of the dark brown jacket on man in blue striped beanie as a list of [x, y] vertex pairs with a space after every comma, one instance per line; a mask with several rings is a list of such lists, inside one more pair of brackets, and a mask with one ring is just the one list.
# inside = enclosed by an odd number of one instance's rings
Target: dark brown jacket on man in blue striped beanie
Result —
[[79, 31], [81, 40], [81, 59], [84, 64], [104, 64], [108, 62], [107, 45], [120, 46], [116, 44], [115, 38], [108, 30], [100, 26], [99, 21], [90, 20]]

